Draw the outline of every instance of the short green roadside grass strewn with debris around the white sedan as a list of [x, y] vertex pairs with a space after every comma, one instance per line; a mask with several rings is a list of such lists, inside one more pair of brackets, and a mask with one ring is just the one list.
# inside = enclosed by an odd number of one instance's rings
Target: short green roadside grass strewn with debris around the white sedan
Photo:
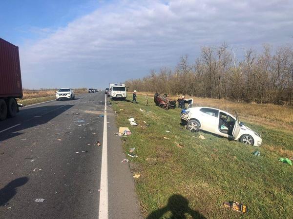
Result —
[[[293, 154], [292, 133], [246, 124], [262, 134], [263, 146], [245, 146], [209, 133], [189, 132], [180, 125], [179, 109], [162, 110], [151, 98], [150, 106], [145, 106], [143, 96], [138, 96], [138, 102], [114, 101], [112, 107], [119, 112], [118, 126], [129, 127], [132, 132], [124, 138], [123, 147], [126, 154], [129, 148], [136, 148], [138, 157], [129, 157], [130, 167], [141, 174], [135, 179], [136, 190], [146, 217], [170, 218], [173, 210], [175, 218], [191, 218], [184, 213], [187, 205], [195, 216], [206, 218], [292, 217], [293, 166], [277, 161]], [[130, 117], [139, 126], [130, 127]], [[141, 127], [143, 121], [150, 126]], [[206, 139], [199, 139], [199, 134]], [[252, 155], [255, 150], [261, 156]], [[243, 202], [249, 213], [225, 209], [224, 201]]]

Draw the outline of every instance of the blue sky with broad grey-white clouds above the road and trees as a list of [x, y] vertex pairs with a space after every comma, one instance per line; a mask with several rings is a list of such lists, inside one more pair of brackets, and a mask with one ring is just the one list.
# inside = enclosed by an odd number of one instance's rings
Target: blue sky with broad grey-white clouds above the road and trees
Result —
[[19, 46], [24, 88], [105, 88], [194, 62], [293, 45], [292, 0], [0, 0], [0, 37]]

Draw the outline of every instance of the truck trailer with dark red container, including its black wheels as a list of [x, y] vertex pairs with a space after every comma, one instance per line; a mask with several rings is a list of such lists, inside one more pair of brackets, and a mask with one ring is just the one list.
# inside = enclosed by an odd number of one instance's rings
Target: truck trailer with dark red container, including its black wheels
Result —
[[19, 48], [0, 38], [0, 121], [19, 112], [22, 98]]

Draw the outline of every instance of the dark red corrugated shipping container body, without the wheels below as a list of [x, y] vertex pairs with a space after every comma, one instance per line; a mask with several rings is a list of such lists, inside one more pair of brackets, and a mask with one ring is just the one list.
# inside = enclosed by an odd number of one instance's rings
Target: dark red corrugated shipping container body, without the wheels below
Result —
[[0, 38], [0, 97], [22, 98], [19, 48]]

